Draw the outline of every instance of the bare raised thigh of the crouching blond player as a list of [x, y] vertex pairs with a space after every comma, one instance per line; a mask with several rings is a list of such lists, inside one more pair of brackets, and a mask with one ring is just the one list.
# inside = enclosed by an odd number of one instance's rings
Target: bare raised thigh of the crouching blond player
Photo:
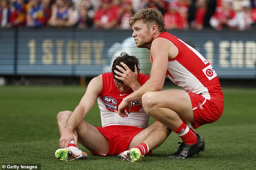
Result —
[[175, 111], [181, 119], [193, 121], [193, 108], [189, 94], [184, 90], [168, 89], [147, 92], [142, 98], [143, 107], [149, 109], [168, 108]]

